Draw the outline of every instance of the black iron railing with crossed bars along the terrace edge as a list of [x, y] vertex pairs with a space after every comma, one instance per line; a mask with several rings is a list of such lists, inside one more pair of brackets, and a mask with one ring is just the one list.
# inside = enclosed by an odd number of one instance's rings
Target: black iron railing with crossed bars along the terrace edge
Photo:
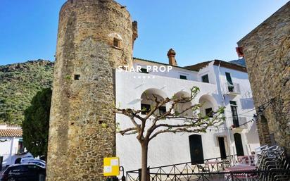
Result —
[[[148, 181], [235, 181], [235, 180], [290, 180], [290, 170], [251, 170], [251, 171], [226, 171], [228, 167], [234, 166], [235, 156], [227, 156], [227, 159], [220, 157], [210, 158], [203, 161], [203, 164], [178, 163], [168, 166], [149, 168]], [[127, 181], [140, 181], [141, 169], [128, 171]]]

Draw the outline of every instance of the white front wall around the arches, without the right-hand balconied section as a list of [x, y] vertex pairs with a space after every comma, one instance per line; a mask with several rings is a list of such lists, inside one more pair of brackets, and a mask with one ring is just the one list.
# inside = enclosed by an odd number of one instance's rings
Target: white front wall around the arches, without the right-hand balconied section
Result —
[[[147, 89], [160, 89], [166, 96], [171, 97], [179, 91], [190, 92], [189, 89], [194, 85], [201, 89], [201, 92], [196, 97], [196, 103], [198, 103], [201, 96], [210, 95], [216, 99], [218, 104], [221, 104], [219, 96], [216, 95], [216, 85], [158, 75], [154, 79], [134, 78], [138, 77], [138, 75], [144, 74], [116, 73], [116, 104], [120, 105], [121, 108], [139, 109], [141, 94]], [[132, 126], [130, 120], [124, 116], [118, 115], [117, 121], [120, 123], [121, 128]], [[225, 132], [220, 132], [220, 134], [226, 135]], [[149, 166], [163, 166], [190, 161], [189, 135], [191, 134], [165, 134], [153, 139], [149, 145]], [[215, 143], [217, 132], [202, 135], [204, 158], [220, 156], [219, 148]], [[117, 155], [120, 156], [121, 165], [125, 166], [125, 170], [140, 168], [140, 146], [136, 135], [117, 135]]]

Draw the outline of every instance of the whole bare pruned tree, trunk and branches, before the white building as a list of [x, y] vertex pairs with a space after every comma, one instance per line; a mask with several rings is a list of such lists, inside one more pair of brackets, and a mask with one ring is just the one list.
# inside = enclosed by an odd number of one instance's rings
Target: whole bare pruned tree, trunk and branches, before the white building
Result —
[[[165, 132], [206, 132], [208, 127], [218, 126], [225, 121], [224, 108], [220, 107], [217, 111], [212, 111], [207, 116], [202, 116], [198, 113], [201, 104], [189, 104], [190, 106], [178, 108], [181, 104], [191, 103], [191, 101], [198, 94], [199, 88], [193, 87], [190, 96], [173, 96], [172, 98], [159, 99], [157, 95], [146, 95], [146, 99], [152, 101], [149, 110], [134, 110], [132, 108], [115, 108], [115, 112], [125, 115], [130, 118], [132, 127], [126, 127], [121, 130], [117, 127], [118, 133], [121, 135], [134, 135], [137, 134], [137, 139], [141, 145], [141, 181], [147, 181], [147, 156], [149, 142], [156, 136]], [[159, 108], [169, 105], [169, 109], [163, 113], [156, 113]], [[178, 110], [178, 111], [177, 111]], [[187, 111], [191, 110], [194, 115], [184, 115]], [[141, 113], [146, 112], [146, 116]], [[174, 119], [175, 123], [168, 123], [168, 120]], [[120, 123], [117, 123], [119, 125]]]

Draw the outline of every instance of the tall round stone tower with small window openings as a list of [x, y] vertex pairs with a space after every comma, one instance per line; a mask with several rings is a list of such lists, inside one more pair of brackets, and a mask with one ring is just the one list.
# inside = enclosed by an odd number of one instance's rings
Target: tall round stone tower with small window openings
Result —
[[51, 102], [47, 181], [104, 180], [115, 156], [115, 68], [132, 65], [137, 23], [113, 0], [61, 8]]

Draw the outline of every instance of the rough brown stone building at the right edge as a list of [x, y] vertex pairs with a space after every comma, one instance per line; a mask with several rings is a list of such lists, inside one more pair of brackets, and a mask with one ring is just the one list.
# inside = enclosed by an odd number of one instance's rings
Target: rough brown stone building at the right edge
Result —
[[238, 42], [258, 111], [261, 144], [290, 155], [290, 2]]

